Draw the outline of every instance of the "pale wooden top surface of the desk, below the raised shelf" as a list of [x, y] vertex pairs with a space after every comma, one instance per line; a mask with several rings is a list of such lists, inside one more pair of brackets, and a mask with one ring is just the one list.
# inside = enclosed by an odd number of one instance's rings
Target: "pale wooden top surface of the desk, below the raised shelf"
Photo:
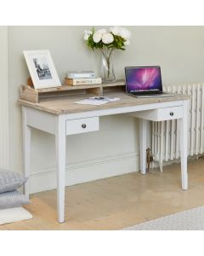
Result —
[[190, 99], [188, 95], [176, 95], [172, 97], [153, 97], [153, 98], [135, 98], [133, 96], [127, 96], [124, 92], [111, 92], [105, 94], [105, 96], [119, 97], [121, 100], [117, 102], [109, 102], [104, 105], [93, 106], [93, 105], [80, 105], [75, 104], [89, 96], [93, 95], [72, 95], [72, 96], [63, 96], [58, 98], [49, 98], [44, 99], [40, 103], [26, 102], [24, 100], [18, 100], [18, 102], [27, 107], [37, 108], [39, 110], [61, 114], [61, 113], [81, 113], [87, 111], [109, 109], [109, 108], [122, 108], [122, 107], [131, 107], [136, 105], [145, 105], [158, 102], [174, 102], [174, 101], [183, 101]]

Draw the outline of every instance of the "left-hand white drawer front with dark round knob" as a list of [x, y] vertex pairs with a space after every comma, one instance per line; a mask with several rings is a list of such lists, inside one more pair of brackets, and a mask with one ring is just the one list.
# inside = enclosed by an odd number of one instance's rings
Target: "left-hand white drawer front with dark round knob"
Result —
[[99, 131], [99, 117], [66, 121], [66, 135]]

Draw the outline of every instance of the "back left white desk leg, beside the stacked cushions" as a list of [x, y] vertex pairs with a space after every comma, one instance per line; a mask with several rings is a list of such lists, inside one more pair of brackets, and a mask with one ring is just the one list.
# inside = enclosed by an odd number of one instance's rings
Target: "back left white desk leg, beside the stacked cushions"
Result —
[[31, 127], [27, 125], [26, 108], [22, 107], [22, 122], [23, 122], [23, 165], [25, 177], [28, 177], [24, 185], [24, 194], [29, 197], [29, 177], [31, 170]]

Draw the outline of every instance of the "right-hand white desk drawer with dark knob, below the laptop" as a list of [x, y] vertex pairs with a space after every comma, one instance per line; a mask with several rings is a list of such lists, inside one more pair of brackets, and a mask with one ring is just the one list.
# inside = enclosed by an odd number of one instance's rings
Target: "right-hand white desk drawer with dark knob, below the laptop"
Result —
[[172, 119], [180, 119], [183, 117], [183, 107], [158, 108], [152, 110], [139, 111], [131, 114], [140, 119], [151, 121], [164, 121]]

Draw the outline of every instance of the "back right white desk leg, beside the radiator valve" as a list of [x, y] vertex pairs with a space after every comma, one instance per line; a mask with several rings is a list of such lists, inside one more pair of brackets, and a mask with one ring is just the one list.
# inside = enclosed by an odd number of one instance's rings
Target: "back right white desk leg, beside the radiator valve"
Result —
[[147, 120], [139, 119], [140, 172], [146, 173]]

